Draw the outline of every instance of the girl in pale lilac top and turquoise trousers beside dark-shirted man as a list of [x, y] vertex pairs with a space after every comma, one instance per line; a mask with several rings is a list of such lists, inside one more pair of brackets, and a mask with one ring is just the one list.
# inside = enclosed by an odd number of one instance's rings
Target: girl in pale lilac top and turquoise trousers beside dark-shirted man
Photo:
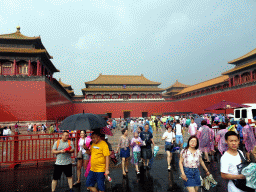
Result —
[[135, 170], [137, 174], [140, 174], [138, 163], [139, 163], [139, 156], [140, 156], [140, 151], [141, 148], [140, 146], [142, 145], [142, 140], [139, 137], [139, 134], [137, 131], [134, 132], [134, 137], [131, 140], [131, 147], [132, 147], [132, 163], [135, 165]]

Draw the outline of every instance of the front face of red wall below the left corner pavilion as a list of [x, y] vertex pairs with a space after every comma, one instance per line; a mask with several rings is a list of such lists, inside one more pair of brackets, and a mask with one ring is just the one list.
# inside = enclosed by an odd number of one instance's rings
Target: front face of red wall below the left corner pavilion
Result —
[[0, 121], [46, 119], [45, 82], [0, 81]]

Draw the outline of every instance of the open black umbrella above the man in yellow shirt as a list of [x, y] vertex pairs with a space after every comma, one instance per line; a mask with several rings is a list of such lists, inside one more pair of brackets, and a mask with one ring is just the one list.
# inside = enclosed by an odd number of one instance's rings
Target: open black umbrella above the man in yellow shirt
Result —
[[99, 115], [92, 113], [75, 114], [64, 119], [61, 130], [94, 130], [107, 126], [107, 122]]

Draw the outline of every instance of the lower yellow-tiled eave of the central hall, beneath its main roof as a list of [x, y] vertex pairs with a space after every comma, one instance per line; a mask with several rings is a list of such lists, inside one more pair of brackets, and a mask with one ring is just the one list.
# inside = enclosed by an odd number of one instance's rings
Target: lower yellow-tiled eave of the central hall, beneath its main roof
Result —
[[124, 91], [124, 92], [128, 92], [128, 91], [164, 91], [164, 89], [161, 88], [84, 88], [82, 89], [82, 91], [84, 92], [108, 92], [108, 91]]

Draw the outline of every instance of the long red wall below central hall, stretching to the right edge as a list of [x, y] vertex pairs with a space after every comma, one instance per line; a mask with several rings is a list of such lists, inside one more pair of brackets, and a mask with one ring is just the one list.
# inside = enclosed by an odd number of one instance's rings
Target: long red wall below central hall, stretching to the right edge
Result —
[[[218, 103], [222, 100], [236, 103], [256, 103], [256, 86], [250, 86], [225, 92], [205, 95], [197, 98], [191, 98], [172, 102], [149, 102], [149, 103], [75, 103], [74, 114], [95, 113], [105, 114], [112, 113], [113, 118], [123, 117], [123, 111], [130, 111], [131, 117], [141, 117], [142, 112], [153, 113], [164, 112], [193, 112], [207, 113], [205, 108]], [[222, 111], [211, 111], [216, 113], [224, 113]], [[232, 109], [227, 113], [233, 112]]]

